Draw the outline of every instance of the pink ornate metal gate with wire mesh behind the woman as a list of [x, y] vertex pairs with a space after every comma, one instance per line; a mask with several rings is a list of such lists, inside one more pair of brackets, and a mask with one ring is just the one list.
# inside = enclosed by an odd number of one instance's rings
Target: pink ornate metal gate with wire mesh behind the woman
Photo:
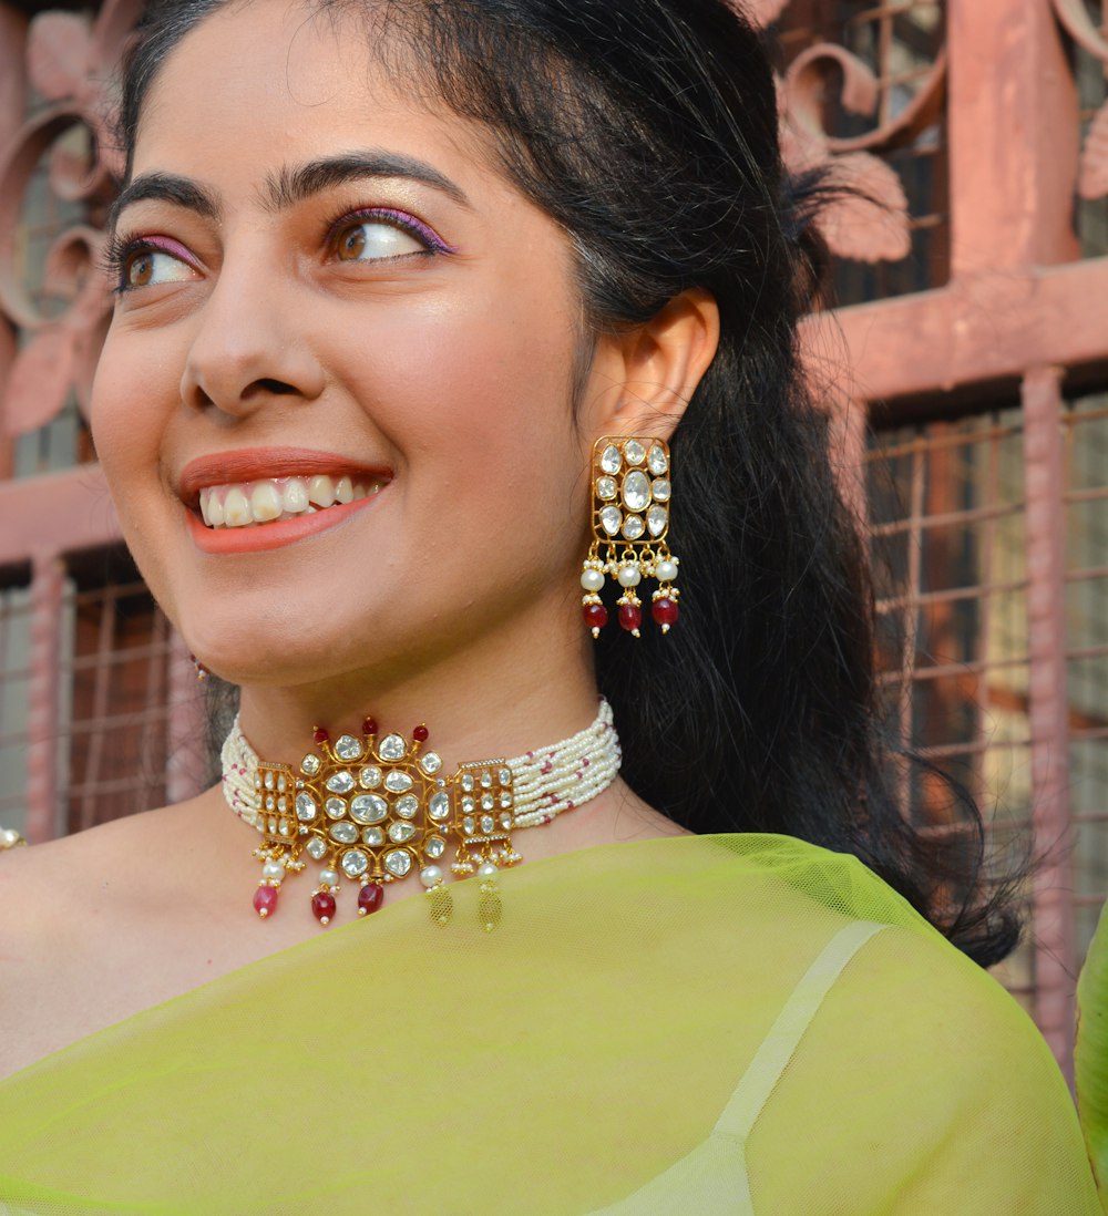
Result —
[[[871, 537], [890, 739], [1034, 838], [1000, 978], [1072, 1070], [1108, 893], [1108, 0], [748, 0], [823, 219], [806, 322]], [[140, 0], [0, 0], [0, 824], [32, 841], [214, 779], [189, 655], [118, 539], [86, 407]], [[905, 770], [904, 814], [962, 831]], [[921, 993], [926, 1000], [926, 993]]]

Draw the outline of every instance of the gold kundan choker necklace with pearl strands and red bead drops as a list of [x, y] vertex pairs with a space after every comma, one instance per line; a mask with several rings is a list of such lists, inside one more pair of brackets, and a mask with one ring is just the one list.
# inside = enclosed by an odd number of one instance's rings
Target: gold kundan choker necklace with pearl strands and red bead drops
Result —
[[418, 871], [432, 917], [445, 923], [452, 897], [438, 862], [455, 845], [455, 874], [482, 878], [479, 916], [485, 929], [500, 919], [493, 882], [497, 869], [523, 858], [512, 832], [540, 827], [596, 798], [615, 779], [619, 737], [612, 706], [601, 699], [591, 726], [553, 747], [511, 760], [478, 760], [443, 776], [443, 760], [424, 750], [426, 726], [411, 739], [378, 736], [367, 717], [361, 737], [332, 742], [316, 728], [315, 749], [299, 765], [261, 760], [238, 726], [223, 745], [223, 792], [227, 805], [261, 835], [254, 856], [261, 882], [254, 910], [263, 919], [277, 908], [281, 883], [306, 866], [322, 868], [311, 893], [321, 924], [336, 913], [341, 876], [360, 884], [358, 914], [376, 912], [384, 884]]

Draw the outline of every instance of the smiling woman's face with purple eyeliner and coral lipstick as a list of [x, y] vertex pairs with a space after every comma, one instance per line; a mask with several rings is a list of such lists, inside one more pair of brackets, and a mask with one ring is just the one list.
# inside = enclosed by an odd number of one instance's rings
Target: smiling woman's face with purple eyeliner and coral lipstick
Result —
[[189, 34], [117, 231], [96, 446], [204, 662], [294, 683], [573, 614], [569, 243], [356, 19], [255, 0]]

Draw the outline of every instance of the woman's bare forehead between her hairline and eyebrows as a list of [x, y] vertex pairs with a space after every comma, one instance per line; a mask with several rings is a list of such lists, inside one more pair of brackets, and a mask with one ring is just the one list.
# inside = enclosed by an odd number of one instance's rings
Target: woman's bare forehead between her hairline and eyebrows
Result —
[[393, 71], [384, 71], [383, 26], [372, 13], [306, 0], [219, 9], [181, 39], [156, 77], [142, 107], [135, 171], [182, 164], [199, 171], [206, 161], [226, 168], [231, 153], [246, 173], [328, 148], [383, 143], [461, 164], [476, 158], [488, 173], [488, 133], [405, 89], [395, 44], [388, 47]]

